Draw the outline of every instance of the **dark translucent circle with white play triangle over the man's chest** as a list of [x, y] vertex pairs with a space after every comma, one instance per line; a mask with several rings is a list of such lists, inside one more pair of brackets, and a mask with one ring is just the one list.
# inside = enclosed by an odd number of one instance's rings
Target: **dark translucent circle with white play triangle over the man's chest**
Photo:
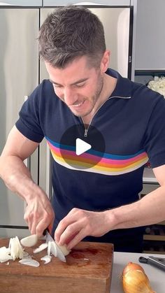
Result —
[[[89, 150], [86, 150], [87, 144], [90, 145]], [[61, 156], [73, 169], [89, 169], [96, 166], [101, 161], [105, 148], [101, 132], [92, 125], [77, 124], [69, 127], [60, 141]], [[77, 153], [82, 153], [76, 155], [76, 150]]]

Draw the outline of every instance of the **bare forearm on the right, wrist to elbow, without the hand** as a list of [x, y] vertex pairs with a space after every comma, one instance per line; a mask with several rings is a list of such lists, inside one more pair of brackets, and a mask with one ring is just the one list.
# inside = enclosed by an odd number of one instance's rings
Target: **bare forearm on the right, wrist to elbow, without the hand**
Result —
[[[111, 229], [124, 229], [155, 224], [165, 220], [165, 185], [143, 199], [120, 208], [106, 211]], [[109, 214], [108, 214], [109, 213]]]

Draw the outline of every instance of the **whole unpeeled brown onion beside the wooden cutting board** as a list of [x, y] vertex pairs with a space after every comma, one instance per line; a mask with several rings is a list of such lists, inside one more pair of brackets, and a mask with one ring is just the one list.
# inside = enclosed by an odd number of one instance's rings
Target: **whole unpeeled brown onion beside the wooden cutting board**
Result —
[[124, 293], [156, 293], [150, 286], [148, 276], [139, 264], [129, 262], [122, 272]]

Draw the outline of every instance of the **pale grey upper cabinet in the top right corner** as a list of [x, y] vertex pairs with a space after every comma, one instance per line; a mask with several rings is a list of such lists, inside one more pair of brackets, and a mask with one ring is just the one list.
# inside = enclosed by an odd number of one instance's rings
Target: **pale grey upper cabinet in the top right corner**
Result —
[[164, 0], [138, 0], [135, 69], [165, 69]]

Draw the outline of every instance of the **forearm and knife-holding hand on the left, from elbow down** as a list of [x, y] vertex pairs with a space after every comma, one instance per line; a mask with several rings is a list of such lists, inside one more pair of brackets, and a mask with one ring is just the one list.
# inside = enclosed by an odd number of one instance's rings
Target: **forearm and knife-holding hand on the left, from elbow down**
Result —
[[6, 186], [27, 202], [24, 213], [31, 234], [41, 236], [43, 230], [50, 227], [52, 229], [55, 217], [51, 203], [45, 192], [34, 183], [29, 170], [16, 156], [0, 157], [0, 176]]

